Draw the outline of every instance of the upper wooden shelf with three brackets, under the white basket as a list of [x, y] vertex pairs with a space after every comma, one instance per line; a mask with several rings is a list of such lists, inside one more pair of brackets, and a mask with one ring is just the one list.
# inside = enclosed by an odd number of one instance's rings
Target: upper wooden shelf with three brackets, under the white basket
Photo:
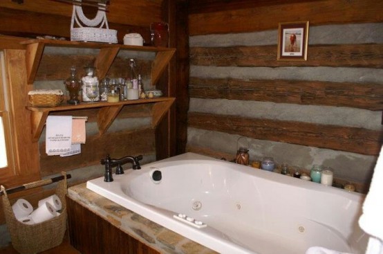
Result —
[[30, 39], [20, 44], [26, 45], [26, 72], [28, 84], [33, 84], [41, 56], [45, 46], [65, 48], [95, 48], [100, 49], [95, 61], [95, 69], [98, 78], [101, 80], [108, 73], [113, 60], [120, 50], [122, 51], [144, 51], [156, 53], [156, 59], [151, 66], [151, 85], [155, 85], [160, 75], [169, 64], [171, 57], [176, 52], [175, 48], [163, 48], [153, 46], [127, 46], [121, 44], [100, 44], [94, 42], [70, 42], [55, 39]]

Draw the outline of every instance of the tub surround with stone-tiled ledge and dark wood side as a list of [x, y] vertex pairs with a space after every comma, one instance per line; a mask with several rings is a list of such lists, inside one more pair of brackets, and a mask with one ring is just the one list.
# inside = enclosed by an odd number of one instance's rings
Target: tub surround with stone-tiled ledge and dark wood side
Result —
[[82, 254], [216, 253], [88, 190], [86, 183], [69, 188], [66, 200], [71, 244]]

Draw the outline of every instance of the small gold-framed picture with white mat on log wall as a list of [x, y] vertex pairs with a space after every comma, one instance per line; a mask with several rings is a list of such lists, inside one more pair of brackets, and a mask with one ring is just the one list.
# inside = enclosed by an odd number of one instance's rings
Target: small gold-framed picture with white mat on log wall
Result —
[[277, 60], [307, 60], [308, 21], [279, 23]]

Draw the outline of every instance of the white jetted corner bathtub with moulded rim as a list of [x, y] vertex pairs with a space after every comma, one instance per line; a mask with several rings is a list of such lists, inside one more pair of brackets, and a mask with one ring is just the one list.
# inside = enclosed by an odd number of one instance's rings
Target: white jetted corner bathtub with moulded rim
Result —
[[[162, 173], [153, 181], [154, 170]], [[86, 187], [219, 253], [299, 254], [310, 246], [362, 254], [364, 195], [187, 153]], [[183, 214], [207, 226], [174, 218]], [[194, 221], [193, 223], [194, 224]]]

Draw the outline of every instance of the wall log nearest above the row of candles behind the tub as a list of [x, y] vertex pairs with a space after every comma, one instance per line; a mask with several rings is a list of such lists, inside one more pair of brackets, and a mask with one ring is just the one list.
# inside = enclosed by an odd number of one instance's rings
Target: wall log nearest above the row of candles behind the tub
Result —
[[383, 141], [382, 131], [196, 112], [189, 127], [367, 155], [378, 155]]

